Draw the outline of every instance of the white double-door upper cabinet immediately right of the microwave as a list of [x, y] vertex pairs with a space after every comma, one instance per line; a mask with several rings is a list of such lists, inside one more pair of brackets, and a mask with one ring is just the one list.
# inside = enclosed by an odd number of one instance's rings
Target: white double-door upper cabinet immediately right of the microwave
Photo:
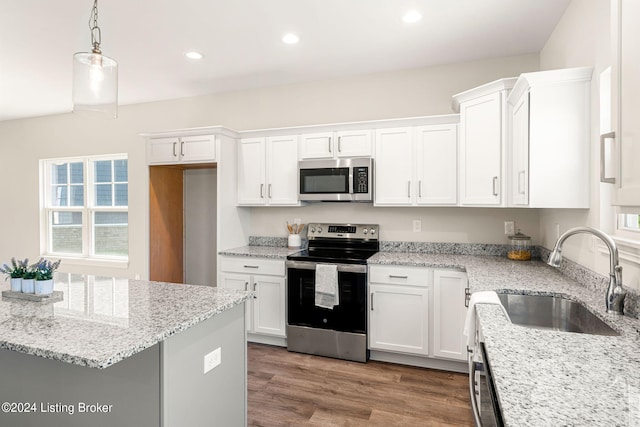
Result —
[[455, 205], [457, 124], [376, 130], [375, 204]]

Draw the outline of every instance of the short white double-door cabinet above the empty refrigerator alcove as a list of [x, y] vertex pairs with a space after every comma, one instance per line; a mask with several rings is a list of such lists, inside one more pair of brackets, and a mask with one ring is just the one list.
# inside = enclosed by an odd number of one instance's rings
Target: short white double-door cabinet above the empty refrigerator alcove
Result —
[[147, 163], [167, 165], [217, 161], [215, 135], [149, 138]]

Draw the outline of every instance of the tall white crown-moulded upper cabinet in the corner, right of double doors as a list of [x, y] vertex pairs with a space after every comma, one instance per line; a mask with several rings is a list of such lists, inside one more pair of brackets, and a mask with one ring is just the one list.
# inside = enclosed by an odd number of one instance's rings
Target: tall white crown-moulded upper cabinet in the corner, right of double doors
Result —
[[504, 204], [506, 97], [516, 78], [501, 79], [459, 93], [453, 108], [460, 111], [460, 204]]

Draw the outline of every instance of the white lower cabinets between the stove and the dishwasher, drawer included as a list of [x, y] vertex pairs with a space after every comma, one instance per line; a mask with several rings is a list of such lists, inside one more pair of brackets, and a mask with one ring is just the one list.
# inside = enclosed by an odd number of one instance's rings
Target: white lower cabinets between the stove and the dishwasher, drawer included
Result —
[[369, 267], [369, 349], [466, 361], [467, 275], [455, 270]]

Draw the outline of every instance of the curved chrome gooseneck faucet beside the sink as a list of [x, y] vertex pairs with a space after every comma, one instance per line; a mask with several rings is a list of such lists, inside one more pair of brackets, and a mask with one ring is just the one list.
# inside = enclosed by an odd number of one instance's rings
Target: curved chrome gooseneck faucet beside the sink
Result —
[[576, 227], [567, 230], [558, 238], [553, 252], [549, 255], [549, 264], [552, 267], [560, 267], [562, 261], [562, 244], [569, 236], [578, 233], [589, 233], [602, 239], [609, 248], [609, 287], [607, 288], [606, 306], [607, 313], [623, 314], [624, 297], [627, 292], [622, 288], [622, 266], [618, 263], [618, 247], [611, 237], [602, 231], [591, 227]]

